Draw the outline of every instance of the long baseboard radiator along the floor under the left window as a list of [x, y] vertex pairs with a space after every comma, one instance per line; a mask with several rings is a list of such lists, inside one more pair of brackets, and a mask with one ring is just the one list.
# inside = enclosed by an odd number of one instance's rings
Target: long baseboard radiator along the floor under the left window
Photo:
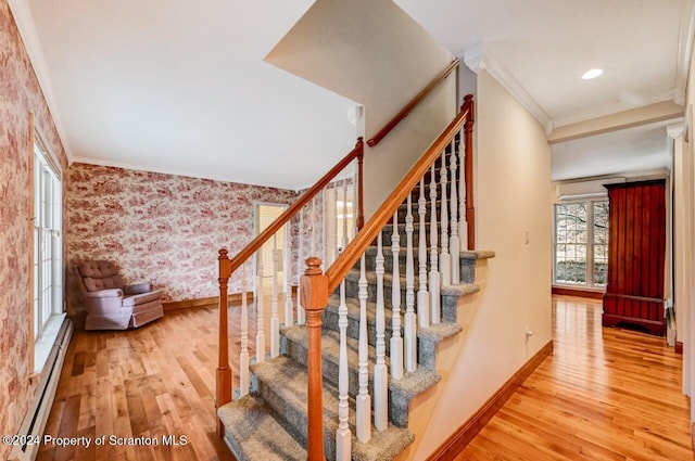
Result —
[[23, 445], [14, 446], [8, 458], [9, 461], [33, 461], [36, 459], [40, 445], [28, 440], [40, 440], [42, 438], [46, 422], [55, 398], [67, 345], [72, 337], [73, 322], [65, 318], [43, 367], [34, 400], [31, 400], [31, 405], [17, 433], [17, 439], [27, 441]]

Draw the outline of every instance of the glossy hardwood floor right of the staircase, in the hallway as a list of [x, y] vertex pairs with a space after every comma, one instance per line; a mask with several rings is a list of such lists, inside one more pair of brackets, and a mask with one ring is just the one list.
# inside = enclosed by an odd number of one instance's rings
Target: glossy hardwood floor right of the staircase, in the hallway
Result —
[[601, 302], [553, 298], [554, 355], [456, 458], [693, 460], [682, 356], [601, 326]]

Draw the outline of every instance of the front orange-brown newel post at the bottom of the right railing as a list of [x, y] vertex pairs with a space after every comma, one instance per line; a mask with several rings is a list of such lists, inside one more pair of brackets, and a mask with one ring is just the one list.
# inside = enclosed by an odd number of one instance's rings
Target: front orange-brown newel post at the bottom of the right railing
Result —
[[306, 259], [307, 269], [300, 280], [301, 304], [308, 328], [308, 461], [324, 461], [324, 394], [321, 372], [321, 313], [328, 306], [328, 278], [317, 257]]

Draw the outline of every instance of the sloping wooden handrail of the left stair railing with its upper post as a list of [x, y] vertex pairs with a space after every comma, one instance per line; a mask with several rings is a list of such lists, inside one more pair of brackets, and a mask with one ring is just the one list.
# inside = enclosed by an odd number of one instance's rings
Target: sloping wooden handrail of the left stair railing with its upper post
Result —
[[357, 222], [364, 221], [364, 212], [362, 209], [362, 159], [364, 157], [364, 142], [362, 138], [357, 139], [355, 149], [350, 151], [334, 167], [332, 167], [326, 175], [321, 177], [308, 191], [304, 192], [302, 196], [294, 202], [289, 208], [287, 208], [280, 216], [278, 216], [263, 232], [256, 235], [237, 256], [231, 259], [229, 265], [225, 266], [226, 272], [223, 273], [220, 266], [219, 277], [229, 278], [239, 269], [244, 261], [247, 261], [254, 253], [256, 253], [265, 242], [267, 242], [282, 226], [285, 226], [294, 215], [296, 215], [316, 194], [318, 194], [328, 183], [342, 171], [352, 161], [357, 158], [359, 164], [359, 178], [358, 178], [358, 202], [359, 208], [357, 210]]

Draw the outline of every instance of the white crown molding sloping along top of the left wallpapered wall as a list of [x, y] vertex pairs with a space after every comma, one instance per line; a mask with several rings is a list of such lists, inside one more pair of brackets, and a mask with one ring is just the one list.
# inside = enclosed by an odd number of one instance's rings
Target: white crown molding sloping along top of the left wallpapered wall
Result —
[[49, 77], [48, 65], [46, 64], [45, 57], [46, 54], [43, 53], [39, 35], [36, 31], [36, 25], [34, 24], [34, 16], [31, 15], [29, 4], [27, 0], [8, 0], [8, 3], [12, 11], [12, 16], [14, 16], [17, 29], [20, 30], [20, 35], [22, 36], [24, 48], [29, 55], [31, 67], [34, 67], [34, 74], [36, 74], [36, 78], [39, 80], [39, 87], [43, 92], [46, 104], [51, 113], [51, 118], [53, 119], [53, 125], [55, 125], [58, 137], [63, 144], [67, 162], [68, 164], [73, 163], [72, 149], [67, 142], [67, 132], [61, 121], [61, 111], [59, 110], [58, 100], [55, 99], [53, 84]]

